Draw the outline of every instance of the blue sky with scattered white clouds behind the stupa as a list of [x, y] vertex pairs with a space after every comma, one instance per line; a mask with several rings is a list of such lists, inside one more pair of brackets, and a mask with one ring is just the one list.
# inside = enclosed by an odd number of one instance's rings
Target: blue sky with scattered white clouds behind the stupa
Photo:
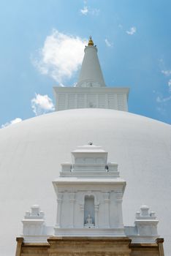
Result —
[[130, 88], [129, 112], [170, 124], [170, 17], [170, 0], [1, 0], [0, 127], [54, 110], [89, 35], [107, 86]]

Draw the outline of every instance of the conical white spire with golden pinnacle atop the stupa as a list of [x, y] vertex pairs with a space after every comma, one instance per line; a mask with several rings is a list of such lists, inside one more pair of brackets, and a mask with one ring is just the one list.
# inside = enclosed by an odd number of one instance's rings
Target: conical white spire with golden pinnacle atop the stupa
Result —
[[104, 87], [105, 83], [97, 56], [97, 48], [96, 45], [94, 46], [91, 36], [84, 52], [77, 87]]

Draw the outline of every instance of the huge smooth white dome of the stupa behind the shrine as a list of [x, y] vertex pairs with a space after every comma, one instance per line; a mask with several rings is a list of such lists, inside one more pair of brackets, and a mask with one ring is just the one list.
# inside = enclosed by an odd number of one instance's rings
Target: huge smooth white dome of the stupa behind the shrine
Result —
[[[126, 180], [123, 223], [134, 225], [142, 204], [156, 211], [166, 255], [171, 251], [170, 125], [105, 109], [64, 110], [13, 124], [0, 131], [0, 255], [15, 254], [25, 211], [39, 204], [47, 225], [56, 222], [52, 181], [70, 152], [92, 141], [108, 151]], [[9, 244], [12, 246], [9, 246]]]

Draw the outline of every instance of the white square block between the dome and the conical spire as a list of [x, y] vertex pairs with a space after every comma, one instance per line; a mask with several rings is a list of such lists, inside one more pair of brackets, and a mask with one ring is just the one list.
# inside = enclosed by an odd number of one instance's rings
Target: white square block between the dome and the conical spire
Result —
[[75, 108], [107, 108], [128, 111], [129, 88], [53, 87], [56, 111]]

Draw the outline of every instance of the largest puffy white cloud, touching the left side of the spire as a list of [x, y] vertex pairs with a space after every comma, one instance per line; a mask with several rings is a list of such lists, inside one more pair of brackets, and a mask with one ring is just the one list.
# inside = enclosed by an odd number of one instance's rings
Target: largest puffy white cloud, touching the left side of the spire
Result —
[[33, 59], [33, 64], [39, 72], [61, 84], [72, 78], [79, 69], [86, 42], [86, 39], [53, 29], [52, 34], [46, 37], [43, 48], [39, 50], [39, 56]]

